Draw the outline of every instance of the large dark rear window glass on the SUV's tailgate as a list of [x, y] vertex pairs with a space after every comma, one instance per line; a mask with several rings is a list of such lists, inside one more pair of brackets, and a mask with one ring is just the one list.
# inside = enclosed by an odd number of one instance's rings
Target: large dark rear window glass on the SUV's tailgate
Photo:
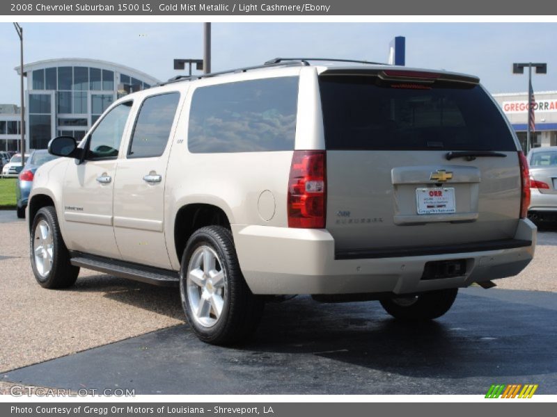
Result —
[[321, 76], [327, 149], [516, 151], [480, 85]]

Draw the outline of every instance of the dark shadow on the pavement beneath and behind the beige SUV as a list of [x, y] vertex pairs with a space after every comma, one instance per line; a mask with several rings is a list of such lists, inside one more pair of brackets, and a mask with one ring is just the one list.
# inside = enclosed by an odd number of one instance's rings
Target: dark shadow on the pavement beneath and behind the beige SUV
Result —
[[[93, 275], [80, 278], [70, 291], [99, 291], [111, 300], [184, 320], [178, 288]], [[298, 296], [267, 303], [258, 331], [243, 345], [205, 345], [187, 325], [156, 332], [157, 343], [171, 343], [171, 350], [194, 349], [233, 357], [237, 364], [265, 363], [275, 357], [311, 364], [309, 357], [313, 357], [406, 377], [557, 373], [552, 348], [557, 345], [557, 334], [547, 331], [554, 327], [557, 309], [537, 303], [535, 292], [491, 290], [515, 295], [505, 300], [478, 296], [487, 294], [479, 291], [484, 290], [462, 291], [446, 316], [430, 322], [394, 320], [379, 302], [322, 304]], [[524, 293], [521, 300], [526, 295], [531, 300], [518, 302], [519, 293]], [[557, 300], [557, 294], [555, 297]]]

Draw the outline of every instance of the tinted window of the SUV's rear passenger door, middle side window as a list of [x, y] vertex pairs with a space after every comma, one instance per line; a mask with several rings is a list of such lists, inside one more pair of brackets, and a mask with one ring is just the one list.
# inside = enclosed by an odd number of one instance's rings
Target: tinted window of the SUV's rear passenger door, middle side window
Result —
[[137, 116], [128, 158], [161, 156], [168, 142], [180, 94], [172, 92], [148, 97]]

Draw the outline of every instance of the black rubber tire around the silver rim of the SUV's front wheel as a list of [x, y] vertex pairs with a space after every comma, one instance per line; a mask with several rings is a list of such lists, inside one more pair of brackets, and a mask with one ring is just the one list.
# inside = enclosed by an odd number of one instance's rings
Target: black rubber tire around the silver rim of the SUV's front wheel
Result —
[[[42, 221], [47, 223], [49, 232], [52, 234], [53, 249], [52, 267], [45, 274], [39, 272], [35, 259], [35, 243], [40, 242], [40, 238], [36, 236], [36, 231], [38, 224]], [[65, 247], [60, 227], [58, 226], [56, 210], [53, 206], [42, 207], [35, 215], [31, 226], [29, 248], [31, 252], [31, 268], [33, 268], [33, 274], [40, 286], [54, 289], [68, 288], [75, 284], [77, 275], [79, 275], [79, 267], [70, 263], [70, 254], [68, 248]]]

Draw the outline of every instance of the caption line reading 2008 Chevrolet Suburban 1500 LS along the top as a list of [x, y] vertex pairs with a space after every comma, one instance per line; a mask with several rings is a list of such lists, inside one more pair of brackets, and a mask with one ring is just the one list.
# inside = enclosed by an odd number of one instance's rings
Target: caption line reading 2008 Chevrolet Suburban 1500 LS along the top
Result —
[[283, 5], [276, 3], [116, 3], [116, 4], [89, 4], [89, 3], [10, 3], [11, 12], [43, 12], [43, 13], [68, 13], [68, 12], [104, 12], [104, 13], [132, 13], [143, 12], [186, 12], [186, 13], [304, 13], [322, 12], [329, 13], [329, 4], [292, 4]]

